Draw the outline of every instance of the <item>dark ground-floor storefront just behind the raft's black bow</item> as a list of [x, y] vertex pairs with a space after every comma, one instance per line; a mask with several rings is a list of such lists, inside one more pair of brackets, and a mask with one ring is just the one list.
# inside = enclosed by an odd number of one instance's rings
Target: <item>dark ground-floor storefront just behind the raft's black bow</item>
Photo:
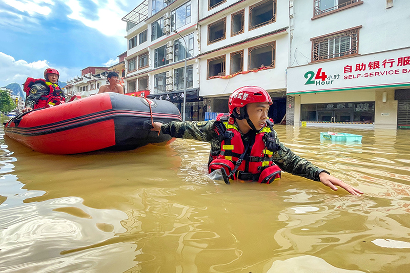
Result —
[[[199, 88], [187, 89], [186, 91], [186, 120], [204, 120], [206, 106], [203, 104], [203, 98], [199, 96]], [[154, 93], [147, 96], [152, 99], [165, 99], [171, 101], [178, 107], [179, 112], [182, 115], [183, 112], [183, 91], [171, 91]]]

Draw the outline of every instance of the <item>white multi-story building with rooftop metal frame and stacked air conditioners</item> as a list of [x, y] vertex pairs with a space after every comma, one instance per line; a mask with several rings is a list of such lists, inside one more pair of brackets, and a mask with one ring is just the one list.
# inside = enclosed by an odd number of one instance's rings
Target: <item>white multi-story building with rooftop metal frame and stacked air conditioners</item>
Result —
[[146, 0], [122, 18], [127, 22], [128, 39], [126, 92], [172, 101], [183, 113], [185, 87], [187, 120], [204, 117], [196, 58], [197, 5], [198, 1], [191, 0]]

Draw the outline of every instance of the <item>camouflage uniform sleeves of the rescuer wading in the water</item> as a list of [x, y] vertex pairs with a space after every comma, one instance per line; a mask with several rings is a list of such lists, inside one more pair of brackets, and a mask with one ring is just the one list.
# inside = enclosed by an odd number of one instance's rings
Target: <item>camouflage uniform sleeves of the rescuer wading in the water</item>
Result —
[[[167, 124], [162, 124], [161, 132], [171, 135], [172, 137], [209, 142], [211, 143], [211, 151], [218, 151], [221, 149], [223, 138], [216, 133], [214, 126], [215, 122], [218, 121], [172, 121]], [[319, 173], [326, 171], [319, 169], [305, 158], [297, 156], [279, 141], [276, 131], [274, 130], [273, 132], [275, 134], [276, 143], [280, 146], [280, 150], [273, 153], [273, 162], [278, 165], [282, 171], [320, 181]], [[247, 141], [247, 138], [250, 138], [249, 134], [243, 135], [241, 133], [241, 136], [244, 141]]]

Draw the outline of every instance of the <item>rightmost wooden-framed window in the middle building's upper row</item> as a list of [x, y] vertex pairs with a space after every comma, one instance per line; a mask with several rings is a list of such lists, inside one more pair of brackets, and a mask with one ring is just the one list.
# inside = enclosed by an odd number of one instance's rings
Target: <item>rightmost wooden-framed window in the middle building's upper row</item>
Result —
[[276, 0], [264, 0], [249, 6], [249, 30], [276, 22]]

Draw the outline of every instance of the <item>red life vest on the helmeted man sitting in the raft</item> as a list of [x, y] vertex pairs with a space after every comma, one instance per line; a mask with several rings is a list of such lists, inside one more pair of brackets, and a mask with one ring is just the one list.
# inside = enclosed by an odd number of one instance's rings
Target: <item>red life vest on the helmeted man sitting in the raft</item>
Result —
[[55, 83], [47, 82], [45, 79], [27, 78], [24, 83], [24, 91], [26, 92], [26, 98], [30, 95], [30, 89], [36, 83], [42, 83], [49, 88], [47, 95], [41, 96], [34, 104], [34, 109], [45, 108], [46, 106], [54, 106], [65, 102], [65, 98], [61, 93], [61, 89]]

